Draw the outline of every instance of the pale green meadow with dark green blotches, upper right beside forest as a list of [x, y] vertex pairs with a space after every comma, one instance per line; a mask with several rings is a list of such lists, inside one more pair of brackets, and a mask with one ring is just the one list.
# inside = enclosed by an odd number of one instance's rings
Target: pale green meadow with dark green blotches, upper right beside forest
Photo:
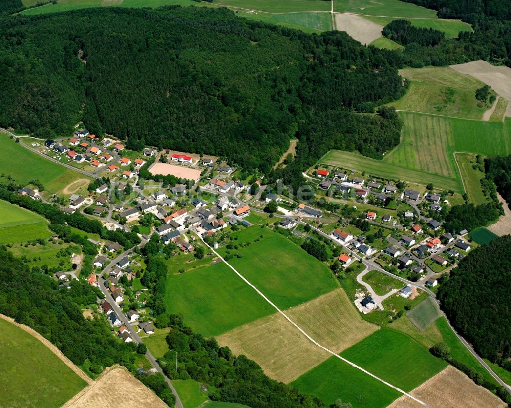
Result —
[[398, 110], [481, 119], [491, 106], [475, 98], [484, 84], [449, 67], [406, 68], [400, 74], [410, 81], [405, 96], [389, 105]]

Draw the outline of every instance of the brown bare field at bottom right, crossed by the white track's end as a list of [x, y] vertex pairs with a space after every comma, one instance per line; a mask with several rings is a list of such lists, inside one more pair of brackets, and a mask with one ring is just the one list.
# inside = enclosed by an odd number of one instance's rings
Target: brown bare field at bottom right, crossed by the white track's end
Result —
[[[506, 404], [483, 387], [477, 386], [467, 375], [452, 366], [427, 380], [410, 392], [432, 408], [504, 408]], [[403, 396], [388, 408], [419, 408], [422, 405]]]

